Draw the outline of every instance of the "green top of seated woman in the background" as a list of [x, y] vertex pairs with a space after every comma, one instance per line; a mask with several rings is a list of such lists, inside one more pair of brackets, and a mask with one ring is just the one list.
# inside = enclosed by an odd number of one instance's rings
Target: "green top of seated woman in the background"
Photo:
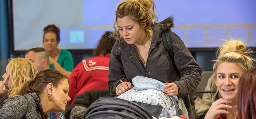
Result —
[[[58, 57], [57, 62], [60, 64], [60, 66], [71, 72], [74, 69], [74, 62], [71, 53], [68, 50], [61, 49], [60, 50], [60, 56]], [[55, 69], [53, 64], [50, 64], [50, 69]]]

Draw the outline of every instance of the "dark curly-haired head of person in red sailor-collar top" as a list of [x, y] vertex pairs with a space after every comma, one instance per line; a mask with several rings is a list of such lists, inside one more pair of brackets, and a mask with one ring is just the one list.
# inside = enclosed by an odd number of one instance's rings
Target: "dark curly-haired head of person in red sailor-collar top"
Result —
[[115, 38], [109, 37], [112, 33], [113, 32], [106, 31], [102, 35], [97, 48], [95, 48], [95, 50], [93, 52], [94, 56], [106, 56], [106, 55], [109, 56], [110, 55], [111, 49], [116, 42]]

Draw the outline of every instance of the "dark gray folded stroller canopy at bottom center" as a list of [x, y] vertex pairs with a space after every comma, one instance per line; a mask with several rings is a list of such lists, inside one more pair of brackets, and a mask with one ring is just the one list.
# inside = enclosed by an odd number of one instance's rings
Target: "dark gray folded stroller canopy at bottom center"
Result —
[[85, 112], [84, 119], [153, 119], [140, 105], [116, 97], [100, 97]]

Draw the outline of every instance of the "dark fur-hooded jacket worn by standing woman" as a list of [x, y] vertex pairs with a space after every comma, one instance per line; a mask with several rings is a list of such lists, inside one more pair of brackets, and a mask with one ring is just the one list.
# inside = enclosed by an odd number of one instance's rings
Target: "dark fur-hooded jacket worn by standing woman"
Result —
[[[115, 94], [116, 86], [121, 83], [119, 80], [132, 82], [132, 78], [137, 75], [153, 78], [163, 83], [173, 82], [178, 86], [178, 97], [183, 98], [189, 118], [193, 119], [195, 118], [195, 111], [191, 93], [200, 83], [202, 70], [180, 37], [170, 31], [170, 28], [173, 27], [173, 19], [169, 17], [160, 23], [154, 23], [153, 38], [146, 66], [140, 60], [133, 45], [127, 44], [122, 38], [121, 41], [114, 44], [109, 61], [108, 89], [111, 94]], [[174, 62], [182, 76], [180, 79], [168, 52], [165, 50], [164, 42], [162, 42], [161, 33], [165, 30], [169, 31], [173, 45]], [[121, 62], [118, 61], [117, 55], [121, 55]]]

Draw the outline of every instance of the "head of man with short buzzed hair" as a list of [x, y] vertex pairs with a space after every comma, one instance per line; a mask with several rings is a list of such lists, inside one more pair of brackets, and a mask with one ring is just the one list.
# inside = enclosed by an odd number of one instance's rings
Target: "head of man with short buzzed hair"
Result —
[[34, 63], [38, 71], [49, 69], [49, 56], [47, 55], [44, 48], [36, 47], [29, 49], [25, 53], [25, 58], [29, 59], [32, 63]]

